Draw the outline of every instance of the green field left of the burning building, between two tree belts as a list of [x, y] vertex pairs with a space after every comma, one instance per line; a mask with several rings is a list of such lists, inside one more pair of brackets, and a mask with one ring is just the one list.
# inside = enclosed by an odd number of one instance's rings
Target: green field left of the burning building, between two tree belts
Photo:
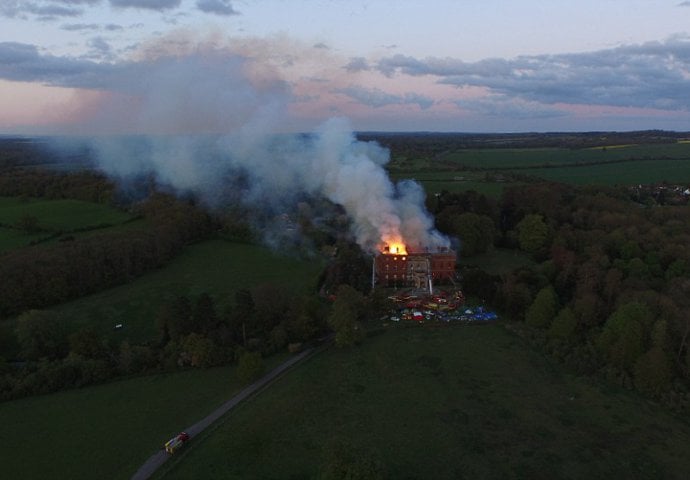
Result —
[[[89, 325], [117, 342], [141, 342], [156, 334], [156, 312], [172, 295], [208, 292], [222, 308], [234, 302], [236, 290], [264, 283], [305, 292], [316, 285], [320, 271], [319, 262], [282, 257], [256, 245], [210, 240], [188, 247], [161, 270], [52, 310], [70, 330]], [[118, 323], [124, 328], [113, 331]]]

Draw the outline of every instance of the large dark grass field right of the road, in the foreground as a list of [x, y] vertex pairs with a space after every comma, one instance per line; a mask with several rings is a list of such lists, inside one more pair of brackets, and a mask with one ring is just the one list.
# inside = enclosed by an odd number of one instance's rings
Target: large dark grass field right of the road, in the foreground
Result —
[[314, 478], [334, 438], [376, 452], [392, 479], [684, 479], [690, 468], [686, 420], [566, 375], [487, 325], [397, 328], [326, 351], [157, 478]]

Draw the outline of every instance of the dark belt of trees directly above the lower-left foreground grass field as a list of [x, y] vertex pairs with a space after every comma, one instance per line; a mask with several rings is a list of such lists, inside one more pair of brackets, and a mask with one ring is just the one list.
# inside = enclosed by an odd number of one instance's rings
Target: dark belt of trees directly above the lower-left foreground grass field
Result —
[[74, 332], [50, 310], [30, 310], [0, 344], [15, 342], [17, 358], [0, 358], [0, 399], [54, 392], [116, 377], [238, 363], [245, 382], [262, 372], [264, 356], [300, 348], [322, 335], [329, 306], [317, 295], [293, 296], [266, 284], [239, 290], [225, 309], [208, 293], [172, 296], [151, 321], [157, 335], [114, 342], [91, 327]]

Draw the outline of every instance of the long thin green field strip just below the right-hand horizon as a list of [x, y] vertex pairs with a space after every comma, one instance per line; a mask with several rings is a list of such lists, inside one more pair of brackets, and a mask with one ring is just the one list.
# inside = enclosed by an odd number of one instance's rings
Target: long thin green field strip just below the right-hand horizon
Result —
[[607, 148], [496, 148], [459, 150], [440, 160], [465, 167], [511, 169], [541, 165], [576, 165], [631, 159], [690, 159], [690, 145], [619, 145]]

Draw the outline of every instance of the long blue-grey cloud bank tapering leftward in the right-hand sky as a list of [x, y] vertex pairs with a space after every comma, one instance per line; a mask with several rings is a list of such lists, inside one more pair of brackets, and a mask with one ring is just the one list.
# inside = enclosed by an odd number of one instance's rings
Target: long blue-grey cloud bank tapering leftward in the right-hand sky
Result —
[[588, 53], [472, 63], [394, 55], [376, 68], [386, 76], [431, 76], [441, 84], [545, 104], [690, 109], [690, 39], [680, 36]]

